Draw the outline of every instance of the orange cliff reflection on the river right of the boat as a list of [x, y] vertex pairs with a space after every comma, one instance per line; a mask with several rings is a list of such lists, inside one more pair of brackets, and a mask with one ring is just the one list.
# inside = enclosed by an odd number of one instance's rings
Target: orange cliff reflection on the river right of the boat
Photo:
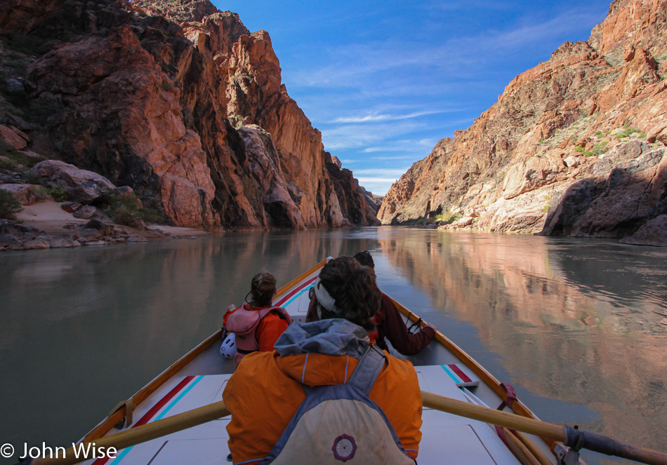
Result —
[[380, 247], [432, 306], [474, 325], [518, 385], [588, 406], [600, 422], [581, 422], [587, 428], [664, 449], [664, 252], [487, 234], [413, 235]]

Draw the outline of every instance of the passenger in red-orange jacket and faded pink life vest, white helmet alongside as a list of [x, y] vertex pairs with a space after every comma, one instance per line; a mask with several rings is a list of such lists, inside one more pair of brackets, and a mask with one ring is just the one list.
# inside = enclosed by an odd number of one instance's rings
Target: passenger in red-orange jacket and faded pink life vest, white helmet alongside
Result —
[[273, 344], [292, 323], [285, 309], [272, 306], [276, 295], [276, 279], [272, 274], [256, 274], [248, 294], [252, 296], [250, 302], [227, 311], [224, 318], [227, 331], [235, 333], [237, 352], [234, 360], [237, 365], [249, 353], [273, 351]]

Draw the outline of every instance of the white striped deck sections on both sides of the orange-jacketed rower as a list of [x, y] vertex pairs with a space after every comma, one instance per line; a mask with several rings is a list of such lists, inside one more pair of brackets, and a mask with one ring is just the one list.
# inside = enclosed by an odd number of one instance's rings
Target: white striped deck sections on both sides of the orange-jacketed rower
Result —
[[[219, 356], [218, 356], [219, 357]], [[440, 365], [417, 367], [423, 391], [468, 401]], [[173, 377], [134, 411], [135, 425], [154, 422], [217, 402], [231, 375]], [[398, 400], [399, 401], [399, 400]], [[425, 408], [418, 463], [517, 464], [513, 454], [488, 424]], [[220, 464], [229, 454], [226, 426], [219, 419], [119, 451], [116, 459], [88, 461], [106, 464]], [[134, 425], [132, 425], [134, 426]], [[114, 431], [112, 431], [113, 433]]]

